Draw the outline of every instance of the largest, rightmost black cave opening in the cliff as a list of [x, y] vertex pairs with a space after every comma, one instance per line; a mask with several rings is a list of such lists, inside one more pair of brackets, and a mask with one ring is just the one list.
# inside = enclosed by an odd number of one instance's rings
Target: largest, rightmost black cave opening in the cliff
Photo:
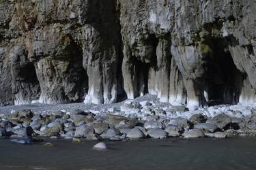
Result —
[[204, 46], [210, 51], [205, 64], [204, 86], [205, 92], [208, 93], [208, 97], [205, 97], [208, 105], [237, 104], [243, 75], [233, 63], [226, 41], [211, 39], [210, 43]]

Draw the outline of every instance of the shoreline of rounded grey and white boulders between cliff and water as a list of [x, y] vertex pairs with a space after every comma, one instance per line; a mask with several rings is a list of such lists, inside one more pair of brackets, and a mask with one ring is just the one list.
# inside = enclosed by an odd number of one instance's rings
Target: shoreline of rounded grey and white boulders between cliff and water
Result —
[[183, 105], [160, 103], [156, 97], [147, 96], [114, 105], [66, 107], [52, 112], [42, 107], [20, 107], [10, 107], [11, 112], [7, 112], [8, 107], [0, 108], [1, 113], [6, 112], [0, 115], [1, 137], [24, 137], [27, 126], [38, 137], [73, 141], [256, 136], [256, 109], [244, 105], [188, 111]]

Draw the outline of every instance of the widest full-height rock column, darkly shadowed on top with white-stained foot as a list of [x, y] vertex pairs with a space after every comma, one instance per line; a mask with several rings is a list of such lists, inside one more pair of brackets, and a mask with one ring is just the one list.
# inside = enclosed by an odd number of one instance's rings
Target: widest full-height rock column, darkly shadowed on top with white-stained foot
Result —
[[83, 26], [83, 67], [89, 90], [85, 103], [115, 103], [120, 27], [116, 2], [87, 1]]

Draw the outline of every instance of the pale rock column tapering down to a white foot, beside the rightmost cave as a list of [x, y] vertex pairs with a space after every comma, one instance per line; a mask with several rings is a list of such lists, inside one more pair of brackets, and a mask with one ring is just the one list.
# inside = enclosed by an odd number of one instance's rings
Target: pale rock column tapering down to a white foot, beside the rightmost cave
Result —
[[204, 55], [200, 46], [174, 46], [171, 45], [171, 54], [182, 73], [186, 88], [188, 109], [197, 109], [205, 105], [202, 77], [205, 70], [203, 65]]

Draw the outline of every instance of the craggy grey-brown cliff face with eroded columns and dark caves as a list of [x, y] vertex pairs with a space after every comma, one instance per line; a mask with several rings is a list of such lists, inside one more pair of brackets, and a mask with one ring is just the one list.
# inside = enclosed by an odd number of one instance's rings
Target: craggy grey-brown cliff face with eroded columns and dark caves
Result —
[[256, 101], [254, 0], [0, 0], [0, 103]]

